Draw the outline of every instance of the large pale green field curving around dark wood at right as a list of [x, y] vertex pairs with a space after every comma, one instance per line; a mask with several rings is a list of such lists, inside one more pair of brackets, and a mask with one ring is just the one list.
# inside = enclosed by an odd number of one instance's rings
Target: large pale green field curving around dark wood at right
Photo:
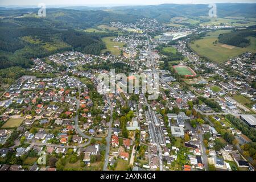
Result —
[[203, 39], [191, 42], [189, 46], [197, 52], [200, 56], [207, 57], [216, 63], [223, 63], [226, 60], [232, 59], [242, 53], [256, 52], [256, 38], [249, 37], [251, 44], [246, 48], [228, 46], [226, 44], [213, 44], [218, 40], [218, 35], [228, 33], [230, 30], [219, 30], [215, 32], [209, 32]]

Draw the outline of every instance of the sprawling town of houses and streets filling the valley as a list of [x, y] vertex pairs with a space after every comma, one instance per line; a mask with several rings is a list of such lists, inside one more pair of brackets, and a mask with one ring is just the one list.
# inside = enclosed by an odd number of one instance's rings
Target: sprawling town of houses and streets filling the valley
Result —
[[[255, 49], [222, 64], [196, 51], [208, 34], [236, 26], [142, 18], [105, 27], [118, 31], [111, 50], [34, 58], [4, 86], [0, 171], [254, 171]], [[98, 92], [110, 69], [159, 75], [158, 98], [116, 82], [115, 93]]]

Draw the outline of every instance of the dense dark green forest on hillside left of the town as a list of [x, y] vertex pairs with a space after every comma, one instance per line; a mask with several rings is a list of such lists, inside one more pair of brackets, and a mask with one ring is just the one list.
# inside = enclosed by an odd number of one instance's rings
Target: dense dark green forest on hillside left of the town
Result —
[[63, 51], [99, 55], [101, 49], [105, 49], [101, 38], [116, 34], [11, 26], [1, 27], [0, 35], [0, 69], [3, 69], [13, 66], [28, 68], [32, 58]]

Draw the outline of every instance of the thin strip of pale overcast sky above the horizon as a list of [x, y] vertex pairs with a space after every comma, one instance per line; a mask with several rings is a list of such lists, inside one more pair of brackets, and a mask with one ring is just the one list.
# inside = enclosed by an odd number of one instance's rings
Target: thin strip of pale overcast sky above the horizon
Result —
[[256, 0], [0, 0], [0, 6], [16, 5], [159, 5], [162, 3], [256, 3]]

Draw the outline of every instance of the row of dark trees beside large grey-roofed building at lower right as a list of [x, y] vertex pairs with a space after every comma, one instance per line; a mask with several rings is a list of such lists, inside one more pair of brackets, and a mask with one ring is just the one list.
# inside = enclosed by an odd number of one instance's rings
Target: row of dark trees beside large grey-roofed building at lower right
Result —
[[225, 117], [228, 119], [238, 130], [242, 131], [247, 137], [249, 137], [253, 142], [256, 142], [256, 130], [249, 127], [245, 123], [243, 123], [240, 119], [234, 117], [233, 115], [226, 115]]

